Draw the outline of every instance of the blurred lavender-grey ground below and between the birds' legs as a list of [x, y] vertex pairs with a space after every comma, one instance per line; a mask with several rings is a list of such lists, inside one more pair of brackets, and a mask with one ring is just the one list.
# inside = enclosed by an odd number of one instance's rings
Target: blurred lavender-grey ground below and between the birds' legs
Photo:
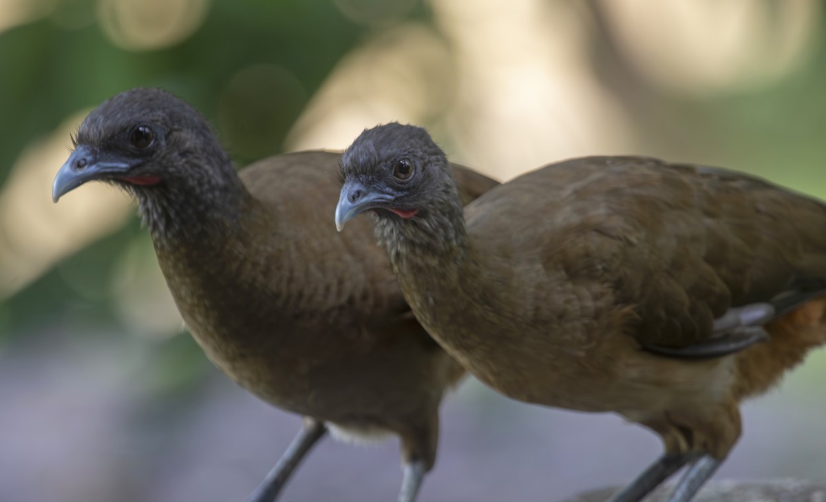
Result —
[[[49, 329], [8, 347], [0, 362], [0, 500], [245, 500], [300, 420], [207, 362], [194, 390], [159, 390], [164, 365], [155, 354], [106, 335], [89, 334], [89, 347], [78, 334]], [[778, 391], [744, 406], [745, 433], [719, 479], [826, 485], [824, 362], [826, 351], [813, 353]], [[448, 396], [443, 424], [423, 502], [566, 500], [623, 485], [661, 450], [653, 434], [614, 415], [521, 405], [476, 381]], [[283, 498], [393, 500], [399, 481], [395, 441], [360, 448], [326, 438]]]

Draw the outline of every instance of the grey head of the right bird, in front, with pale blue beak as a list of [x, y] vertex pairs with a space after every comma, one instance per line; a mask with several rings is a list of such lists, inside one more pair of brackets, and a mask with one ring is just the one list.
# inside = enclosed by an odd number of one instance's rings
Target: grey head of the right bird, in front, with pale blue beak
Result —
[[431, 207], [435, 197], [458, 197], [444, 152], [415, 125], [392, 122], [364, 130], [342, 154], [341, 173], [339, 231], [364, 211], [408, 220]]

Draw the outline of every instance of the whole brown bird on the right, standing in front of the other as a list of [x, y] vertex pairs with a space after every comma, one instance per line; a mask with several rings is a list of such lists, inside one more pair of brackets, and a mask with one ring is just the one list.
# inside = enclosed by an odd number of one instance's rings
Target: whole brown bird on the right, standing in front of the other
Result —
[[591, 157], [515, 178], [463, 217], [448, 165], [423, 129], [363, 132], [342, 156], [336, 225], [376, 212], [414, 314], [487, 385], [659, 434], [663, 456], [613, 500], [691, 464], [671, 499], [690, 500], [740, 435], [738, 403], [826, 342], [819, 201], [718, 168]]

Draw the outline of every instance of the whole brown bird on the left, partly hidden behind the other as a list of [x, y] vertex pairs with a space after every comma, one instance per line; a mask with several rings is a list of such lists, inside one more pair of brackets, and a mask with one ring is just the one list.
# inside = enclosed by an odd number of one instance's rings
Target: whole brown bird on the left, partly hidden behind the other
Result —
[[[411, 315], [365, 221], [335, 232], [340, 154], [301, 152], [235, 173], [202, 116], [159, 89], [122, 92], [80, 125], [55, 201], [91, 180], [126, 189], [183, 320], [247, 391], [305, 417], [249, 500], [273, 500], [329, 426], [401, 438], [399, 500], [433, 466], [439, 401], [463, 375]], [[455, 166], [472, 200], [497, 183]]]

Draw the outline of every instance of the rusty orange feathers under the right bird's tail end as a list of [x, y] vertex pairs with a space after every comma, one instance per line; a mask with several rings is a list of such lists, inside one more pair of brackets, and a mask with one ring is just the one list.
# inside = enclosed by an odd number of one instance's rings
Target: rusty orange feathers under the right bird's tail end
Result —
[[807, 301], [766, 324], [765, 343], [757, 343], [735, 356], [738, 400], [760, 395], [780, 382], [812, 348], [826, 343], [826, 296]]

